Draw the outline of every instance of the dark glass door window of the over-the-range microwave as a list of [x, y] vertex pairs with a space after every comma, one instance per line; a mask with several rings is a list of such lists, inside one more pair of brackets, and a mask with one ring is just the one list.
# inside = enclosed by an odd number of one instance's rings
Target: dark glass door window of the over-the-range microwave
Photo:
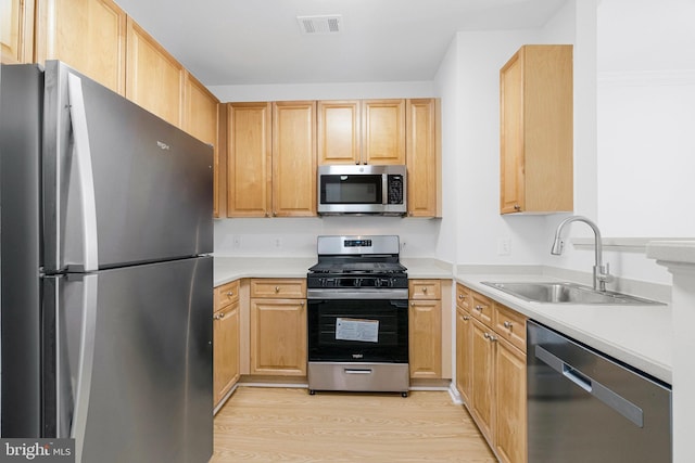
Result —
[[321, 204], [381, 204], [381, 176], [320, 177]]

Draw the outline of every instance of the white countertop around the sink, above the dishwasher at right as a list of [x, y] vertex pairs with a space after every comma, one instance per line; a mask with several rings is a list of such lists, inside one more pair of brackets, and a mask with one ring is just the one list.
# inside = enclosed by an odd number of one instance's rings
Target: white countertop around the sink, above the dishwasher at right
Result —
[[459, 283], [672, 384], [671, 307], [529, 303], [481, 282], [560, 281], [540, 274], [457, 274]]

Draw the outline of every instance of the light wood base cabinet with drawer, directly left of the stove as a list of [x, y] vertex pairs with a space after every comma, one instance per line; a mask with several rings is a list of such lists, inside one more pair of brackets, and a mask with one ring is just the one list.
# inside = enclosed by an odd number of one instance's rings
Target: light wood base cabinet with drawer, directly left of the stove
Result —
[[306, 280], [251, 280], [251, 374], [306, 375]]

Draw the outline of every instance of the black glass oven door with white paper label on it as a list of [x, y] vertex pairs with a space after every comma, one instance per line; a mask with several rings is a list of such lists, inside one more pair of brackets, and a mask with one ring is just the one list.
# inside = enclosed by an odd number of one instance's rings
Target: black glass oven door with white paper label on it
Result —
[[308, 361], [407, 363], [407, 299], [308, 299]]

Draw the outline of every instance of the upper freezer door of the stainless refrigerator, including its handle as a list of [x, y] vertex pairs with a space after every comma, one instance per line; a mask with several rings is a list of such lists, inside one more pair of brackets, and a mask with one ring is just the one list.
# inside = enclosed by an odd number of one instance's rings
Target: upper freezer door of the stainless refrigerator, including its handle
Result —
[[45, 81], [47, 272], [212, 253], [212, 146], [60, 62]]

